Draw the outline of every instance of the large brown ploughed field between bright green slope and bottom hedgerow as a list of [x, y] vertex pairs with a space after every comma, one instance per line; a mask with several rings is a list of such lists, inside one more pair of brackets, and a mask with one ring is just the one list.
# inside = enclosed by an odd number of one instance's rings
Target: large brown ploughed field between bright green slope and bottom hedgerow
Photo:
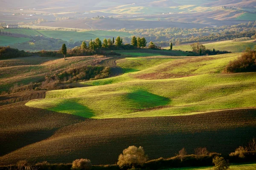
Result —
[[114, 164], [131, 145], [143, 146], [149, 159], [175, 156], [183, 147], [189, 154], [196, 147], [228, 154], [253, 138], [255, 118], [256, 109], [243, 109], [191, 116], [85, 119], [0, 157], [0, 162], [70, 163], [85, 157], [93, 164]]

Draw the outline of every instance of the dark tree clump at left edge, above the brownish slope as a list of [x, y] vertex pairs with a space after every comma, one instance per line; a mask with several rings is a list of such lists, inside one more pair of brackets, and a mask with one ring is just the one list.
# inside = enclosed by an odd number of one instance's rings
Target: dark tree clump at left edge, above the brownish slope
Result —
[[15, 48], [10, 47], [0, 47], [0, 59], [9, 59], [9, 58], [17, 58], [17, 57], [29, 57], [32, 56], [32, 54], [25, 52], [25, 51], [19, 51]]

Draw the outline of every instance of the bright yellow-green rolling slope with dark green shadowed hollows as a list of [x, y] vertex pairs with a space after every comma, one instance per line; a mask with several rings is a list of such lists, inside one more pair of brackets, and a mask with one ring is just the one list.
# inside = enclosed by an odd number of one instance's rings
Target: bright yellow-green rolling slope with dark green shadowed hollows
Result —
[[239, 55], [171, 60], [119, 77], [82, 83], [94, 85], [91, 87], [49, 91], [46, 99], [26, 105], [95, 119], [255, 107], [256, 73], [221, 74], [225, 65]]

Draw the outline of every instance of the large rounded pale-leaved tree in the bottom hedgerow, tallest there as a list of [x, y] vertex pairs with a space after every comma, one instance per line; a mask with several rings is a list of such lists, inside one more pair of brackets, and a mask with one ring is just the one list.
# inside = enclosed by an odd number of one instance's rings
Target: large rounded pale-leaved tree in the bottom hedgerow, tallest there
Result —
[[117, 164], [120, 168], [132, 167], [137, 165], [143, 165], [147, 161], [148, 156], [145, 155], [143, 147], [129, 146], [123, 150], [123, 153], [119, 155]]

